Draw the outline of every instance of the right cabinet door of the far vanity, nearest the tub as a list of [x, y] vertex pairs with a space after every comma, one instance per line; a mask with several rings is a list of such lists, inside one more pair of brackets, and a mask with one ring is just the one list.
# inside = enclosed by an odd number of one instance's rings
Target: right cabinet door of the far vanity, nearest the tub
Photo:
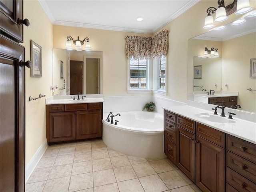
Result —
[[102, 110], [76, 112], [76, 139], [102, 137]]

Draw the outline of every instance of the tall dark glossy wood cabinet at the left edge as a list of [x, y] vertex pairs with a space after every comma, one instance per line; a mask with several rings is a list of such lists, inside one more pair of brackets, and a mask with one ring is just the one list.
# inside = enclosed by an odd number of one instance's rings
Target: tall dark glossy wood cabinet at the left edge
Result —
[[0, 1], [0, 191], [25, 190], [25, 61], [22, 0]]

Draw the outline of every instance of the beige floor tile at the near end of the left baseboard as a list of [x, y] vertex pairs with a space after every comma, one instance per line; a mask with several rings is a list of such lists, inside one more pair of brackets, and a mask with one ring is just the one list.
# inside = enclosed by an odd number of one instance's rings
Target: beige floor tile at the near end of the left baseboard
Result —
[[51, 167], [35, 169], [28, 179], [27, 184], [47, 180], [51, 169]]

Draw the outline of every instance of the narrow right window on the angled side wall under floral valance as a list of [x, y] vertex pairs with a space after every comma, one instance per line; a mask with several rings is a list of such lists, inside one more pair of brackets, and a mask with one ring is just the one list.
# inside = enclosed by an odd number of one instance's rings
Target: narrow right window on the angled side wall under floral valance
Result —
[[158, 58], [158, 89], [166, 90], [166, 57]]

